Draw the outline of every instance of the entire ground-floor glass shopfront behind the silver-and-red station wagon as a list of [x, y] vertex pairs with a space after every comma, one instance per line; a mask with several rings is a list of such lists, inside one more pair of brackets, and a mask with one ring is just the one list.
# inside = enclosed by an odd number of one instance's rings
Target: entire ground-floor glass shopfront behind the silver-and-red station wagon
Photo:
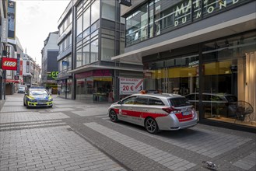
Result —
[[236, 120], [230, 106], [243, 101], [256, 109], [255, 35], [252, 31], [204, 43], [202, 54], [198, 49], [197, 53], [147, 62], [143, 64], [146, 89], [186, 96], [198, 113], [201, 102], [203, 119], [256, 127], [256, 113]]

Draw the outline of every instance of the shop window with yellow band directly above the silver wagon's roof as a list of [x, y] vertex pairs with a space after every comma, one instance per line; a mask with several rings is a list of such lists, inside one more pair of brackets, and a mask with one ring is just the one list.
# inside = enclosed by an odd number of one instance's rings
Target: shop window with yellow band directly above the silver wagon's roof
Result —
[[198, 92], [198, 54], [148, 64], [146, 89], [186, 96]]

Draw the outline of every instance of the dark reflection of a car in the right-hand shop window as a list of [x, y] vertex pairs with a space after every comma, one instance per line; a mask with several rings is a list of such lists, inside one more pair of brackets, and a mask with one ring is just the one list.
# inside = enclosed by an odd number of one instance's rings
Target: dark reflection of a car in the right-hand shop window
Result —
[[[196, 110], [199, 109], [199, 95], [197, 92], [185, 97], [195, 106]], [[202, 93], [202, 106], [205, 112], [213, 115], [233, 117], [233, 110], [230, 108], [232, 102], [237, 102], [237, 96], [226, 93]]]

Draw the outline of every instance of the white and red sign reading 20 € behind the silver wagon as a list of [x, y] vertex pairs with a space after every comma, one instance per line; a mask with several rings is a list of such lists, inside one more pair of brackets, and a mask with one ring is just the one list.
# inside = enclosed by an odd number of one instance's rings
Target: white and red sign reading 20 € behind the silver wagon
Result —
[[119, 78], [119, 94], [129, 95], [143, 89], [143, 79]]

